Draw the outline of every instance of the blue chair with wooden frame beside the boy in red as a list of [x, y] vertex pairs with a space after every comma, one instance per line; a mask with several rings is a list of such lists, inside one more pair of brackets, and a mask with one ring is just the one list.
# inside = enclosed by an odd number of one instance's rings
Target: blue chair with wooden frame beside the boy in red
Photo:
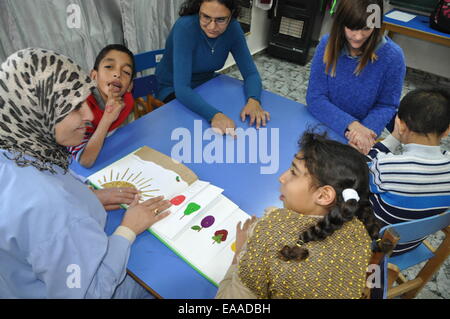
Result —
[[158, 92], [158, 81], [154, 74], [142, 75], [143, 71], [154, 69], [161, 60], [164, 50], [147, 51], [134, 55], [136, 73], [133, 81], [133, 97], [135, 99], [135, 119], [153, 111], [164, 103], [155, 98]]

